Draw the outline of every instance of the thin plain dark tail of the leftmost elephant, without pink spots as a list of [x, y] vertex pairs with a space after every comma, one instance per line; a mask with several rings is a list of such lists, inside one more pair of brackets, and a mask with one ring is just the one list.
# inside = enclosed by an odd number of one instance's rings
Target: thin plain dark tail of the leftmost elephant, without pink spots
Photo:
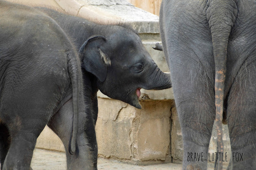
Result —
[[[79, 89], [80, 89], [80, 64], [76, 59], [73, 52], [68, 53], [68, 74], [71, 78], [72, 93], [73, 93], [73, 123], [72, 123], [72, 134], [70, 136], [70, 142], [68, 151], [70, 154], [76, 152], [76, 135], [78, 129], [78, 101], [79, 101]], [[81, 74], [80, 74], [81, 75]]]

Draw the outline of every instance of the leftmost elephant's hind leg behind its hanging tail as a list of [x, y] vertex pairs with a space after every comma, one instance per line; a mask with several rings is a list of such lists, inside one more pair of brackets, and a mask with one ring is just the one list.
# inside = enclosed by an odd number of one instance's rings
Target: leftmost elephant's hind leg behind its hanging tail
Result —
[[72, 134], [72, 99], [66, 102], [48, 123], [48, 127], [59, 136], [64, 144], [68, 169], [97, 169], [96, 133], [91, 112], [86, 111], [85, 113], [88, 115], [79, 114], [76, 153], [73, 155], [68, 151]]

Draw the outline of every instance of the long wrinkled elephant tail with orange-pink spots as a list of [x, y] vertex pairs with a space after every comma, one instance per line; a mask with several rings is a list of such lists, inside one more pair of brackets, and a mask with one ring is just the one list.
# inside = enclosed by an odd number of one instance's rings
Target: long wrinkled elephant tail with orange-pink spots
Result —
[[[212, 45], [215, 63], [215, 109], [217, 150], [222, 152], [222, 119], [224, 103], [224, 83], [226, 78], [226, 57], [230, 31], [237, 16], [237, 6], [234, 0], [209, 0], [206, 16], [212, 34]], [[218, 161], [218, 160], [216, 160]], [[217, 169], [222, 169], [222, 161]]]

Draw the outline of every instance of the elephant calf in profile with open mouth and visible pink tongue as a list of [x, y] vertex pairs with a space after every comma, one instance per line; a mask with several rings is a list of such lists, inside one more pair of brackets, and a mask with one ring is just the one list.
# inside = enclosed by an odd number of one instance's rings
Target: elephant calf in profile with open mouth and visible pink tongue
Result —
[[[138, 98], [140, 88], [167, 89], [171, 87], [170, 75], [163, 73], [143, 47], [139, 36], [125, 25], [101, 25], [84, 18], [70, 16], [48, 8], [37, 8], [53, 18], [66, 34], [74, 40], [81, 55], [84, 80], [84, 101], [90, 106], [94, 125], [98, 115], [97, 91], [141, 109]], [[60, 114], [55, 114], [48, 126], [62, 139]], [[62, 115], [62, 117], [65, 117]], [[57, 123], [57, 121], [59, 123]], [[92, 127], [92, 126], [90, 126]], [[86, 133], [94, 134], [90, 128]], [[89, 139], [94, 162], [97, 162], [97, 142]], [[68, 155], [67, 155], [68, 156]]]

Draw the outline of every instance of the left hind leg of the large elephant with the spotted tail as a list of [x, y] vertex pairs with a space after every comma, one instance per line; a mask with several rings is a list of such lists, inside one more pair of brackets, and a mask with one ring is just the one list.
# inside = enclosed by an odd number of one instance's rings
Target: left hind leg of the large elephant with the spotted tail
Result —
[[163, 1], [160, 10], [161, 38], [182, 129], [183, 169], [207, 169], [215, 119], [215, 64], [206, 3]]

